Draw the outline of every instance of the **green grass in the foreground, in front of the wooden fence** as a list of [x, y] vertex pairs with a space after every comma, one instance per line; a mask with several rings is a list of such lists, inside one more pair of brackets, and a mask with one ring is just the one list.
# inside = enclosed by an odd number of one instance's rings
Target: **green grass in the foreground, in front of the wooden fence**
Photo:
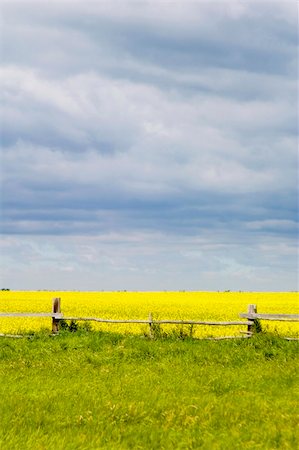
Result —
[[0, 448], [296, 449], [297, 364], [266, 335], [2, 338]]

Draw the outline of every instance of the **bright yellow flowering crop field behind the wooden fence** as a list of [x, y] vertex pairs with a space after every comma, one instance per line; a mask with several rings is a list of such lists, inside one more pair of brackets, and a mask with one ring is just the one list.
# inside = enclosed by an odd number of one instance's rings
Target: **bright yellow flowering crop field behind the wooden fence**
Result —
[[[53, 297], [61, 298], [64, 316], [101, 317], [106, 319], [239, 320], [249, 304], [259, 313], [298, 314], [297, 292], [0, 292], [0, 312], [51, 312]], [[263, 328], [286, 336], [299, 334], [297, 323], [262, 322]], [[94, 329], [124, 333], [146, 333], [147, 325], [99, 324]], [[176, 327], [176, 328], [175, 328]], [[165, 331], [178, 325], [165, 325]], [[0, 333], [18, 333], [51, 328], [51, 318], [0, 318]], [[195, 337], [239, 335], [246, 326], [196, 326]], [[188, 332], [188, 326], [184, 328]]]

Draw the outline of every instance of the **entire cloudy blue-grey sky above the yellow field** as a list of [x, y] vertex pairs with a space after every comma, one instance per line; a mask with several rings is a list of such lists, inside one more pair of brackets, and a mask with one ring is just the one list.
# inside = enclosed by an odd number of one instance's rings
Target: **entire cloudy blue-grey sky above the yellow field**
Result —
[[0, 288], [298, 289], [296, 0], [0, 11]]

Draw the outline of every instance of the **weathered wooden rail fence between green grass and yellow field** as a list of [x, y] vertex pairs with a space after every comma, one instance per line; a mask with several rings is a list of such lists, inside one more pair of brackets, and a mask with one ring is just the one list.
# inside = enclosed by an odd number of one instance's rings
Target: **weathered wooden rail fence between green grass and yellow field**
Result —
[[[240, 313], [240, 318], [247, 320], [235, 320], [235, 321], [194, 321], [194, 320], [154, 320], [152, 314], [149, 314], [148, 319], [102, 319], [99, 317], [68, 317], [61, 313], [61, 302], [60, 298], [53, 299], [53, 307], [51, 313], [20, 313], [20, 312], [0, 312], [1, 317], [49, 317], [52, 319], [52, 333], [58, 334], [59, 325], [61, 320], [69, 321], [93, 321], [101, 323], [117, 323], [117, 324], [147, 324], [149, 325], [149, 335], [154, 336], [154, 328], [156, 325], [163, 324], [173, 324], [173, 325], [206, 325], [206, 326], [247, 326], [246, 331], [241, 331], [242, 336], [223, 336], [217, 338], [206, 338], [206, 339], [235, 339], [235, 338], [246, 338], [251, 337], [255, 332], [261, 330], [260, 321], [261, 320], [272, 320], [272, 321], [284, 321], [284, 322], [299, 322], [299, 314], [258, 314], [256, 305], [249, 305], [248, 311], [246, 313]], [[17, 335], [0, 334], [0, 336], [6, 337], [22, 337]], [[288, 340], [298, 340], [297, 338], [285, 338]]]

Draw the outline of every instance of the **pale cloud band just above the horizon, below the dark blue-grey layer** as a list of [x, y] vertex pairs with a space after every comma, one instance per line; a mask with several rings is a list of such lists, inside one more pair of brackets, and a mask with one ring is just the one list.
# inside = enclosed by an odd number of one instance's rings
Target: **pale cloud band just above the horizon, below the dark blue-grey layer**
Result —
[[11, 289], [296, 290], [291, 243], [267, 238], [240, 246], [239, 236], [225, 237], [225, 244], [223, 238], [134, 233], [54, 237], [48, 244], [45, 237], [15, 236], [2, 241], [1, 282]]

